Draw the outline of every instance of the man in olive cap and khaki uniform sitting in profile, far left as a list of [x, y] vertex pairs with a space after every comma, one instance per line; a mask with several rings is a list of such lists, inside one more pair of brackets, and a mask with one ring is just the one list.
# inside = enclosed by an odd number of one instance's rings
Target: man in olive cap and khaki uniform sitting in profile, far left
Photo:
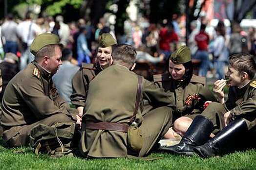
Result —
[[8, 83], [3, 95], [1, 126], [7, 147], [28, 146], [30, 131], [39, 123], [51, 126], [77, 119], [77, 110], [69, 108], [51, 79], [62, 64], [59, 37], [40, 34], [30, 51], [35, 60]]

